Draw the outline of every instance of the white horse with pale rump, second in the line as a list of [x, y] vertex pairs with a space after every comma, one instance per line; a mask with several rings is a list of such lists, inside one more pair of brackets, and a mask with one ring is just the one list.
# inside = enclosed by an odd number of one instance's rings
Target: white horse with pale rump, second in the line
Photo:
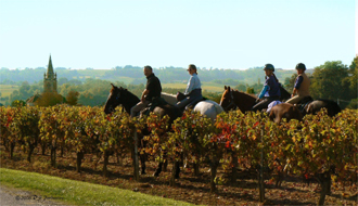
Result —
[[[171, 105], [176, 105], [178, 102], [177, 96], [175, 94], [162, 92], [161, 96]], [[193, 111], [200, 112], [200, 114], [210, 118], [212, 121], [214, 123], [216, 119], [216, 116], [218, 114], [222, 113], [223, 108], [220, 106], [220, 104], [218, 104], [212, 100], [205, 100], [205, 101], [199, 102], [195, 105]]]

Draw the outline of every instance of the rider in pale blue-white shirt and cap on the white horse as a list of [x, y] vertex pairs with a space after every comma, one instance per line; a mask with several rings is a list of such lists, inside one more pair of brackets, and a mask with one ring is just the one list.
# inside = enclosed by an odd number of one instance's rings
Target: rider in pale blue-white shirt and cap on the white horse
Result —
[[197, 101], [203, 99], [202, 95], [202, 85], [200, 82], [200, 79], [197, 77], [196, 66], [194, 64], [190, 64], [188, 69], [189, 75], [191, 75], [188, 86], [184, 92], [186, 99], [177, 103], [177, 107], [183, 108], [191, 107], [193, 104], [195, 104]]

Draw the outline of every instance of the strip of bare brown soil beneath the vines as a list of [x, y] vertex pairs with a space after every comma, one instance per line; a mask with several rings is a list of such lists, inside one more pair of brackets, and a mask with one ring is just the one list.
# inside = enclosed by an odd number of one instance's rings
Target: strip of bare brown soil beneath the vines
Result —
[[[163, 171], [158, 178], [154, 178], [156, 163], [152, 159], [148, 163], [146, 175], [140, 176], [140, 182], [132, 179], [132, 160], [130, 154], [119, 157], [119, 164], [114, 156], [110, 157], [108, 178], [102, 176], [103, 158], [92, 154], [86, 154], [82, 163], [82, 171], [76, 172], [75, 153], [64, 153], [63, 157], [57, 153], [57, 168], [50, 166], [50, 154], [44, 156], [38, 149], [31, 163], [26, 160], [26, 153], [20, 147], [15, 147], [14, 159], [0, 146], [1, 167], [35, 171], [51, 176], [87, 181], [115, 188], [132, 190], [136, 192], [157, 195], [194, 204], [204, 205], [257, 205], [259, 194], [257, 189], [257, 173], [250, 169], [240, 169], [236, 181], [230, 181], [230, 173], [225, 168], [218, 169], [218, 192], [209, 193], [209, 167], [202, 164], [200, 177], [194, 176], [192, 167], [181, 170], [180, 178], [176, 181], [176, 186], [169, 186], [171, 173], [171, 163], [168, 170]], [[272, 180], [265, 180], [266, 205], [316, 205], [319, 198], [319, 185], [312, 181], [309, 185], [303, 178], [286, 176], [280, 188], [274, 188]], [[332, 194], [325, 197], [325, 205], [357, 205], [357, 183], [346, 182], [345, 185], [333, 184]]]

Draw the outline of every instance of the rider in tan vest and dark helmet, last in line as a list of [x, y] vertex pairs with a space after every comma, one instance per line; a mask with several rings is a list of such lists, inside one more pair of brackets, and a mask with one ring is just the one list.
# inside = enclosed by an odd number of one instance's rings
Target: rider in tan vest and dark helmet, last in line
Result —
[[[305, 74], [306, 66], [303, 63], [298, 63], [296, 65], [297, 69], [297, 78], [296, 82], [291, 95], [291, 99], [286, 101], [286, 103], [290, 104], [297, 104], [301, 100], [303, 100], [305, 96], [309, 96], [309, 85], [310, 80]], [[295, 95], [297, 93], [297, 95]]]

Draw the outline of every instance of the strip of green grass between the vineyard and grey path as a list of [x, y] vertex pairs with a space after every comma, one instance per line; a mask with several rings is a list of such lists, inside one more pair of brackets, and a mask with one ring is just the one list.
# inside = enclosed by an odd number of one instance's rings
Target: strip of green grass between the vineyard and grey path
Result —
[[76, 205], [191, 205], [129, 190], [5, 168], [0, 168], [0, 182]]

